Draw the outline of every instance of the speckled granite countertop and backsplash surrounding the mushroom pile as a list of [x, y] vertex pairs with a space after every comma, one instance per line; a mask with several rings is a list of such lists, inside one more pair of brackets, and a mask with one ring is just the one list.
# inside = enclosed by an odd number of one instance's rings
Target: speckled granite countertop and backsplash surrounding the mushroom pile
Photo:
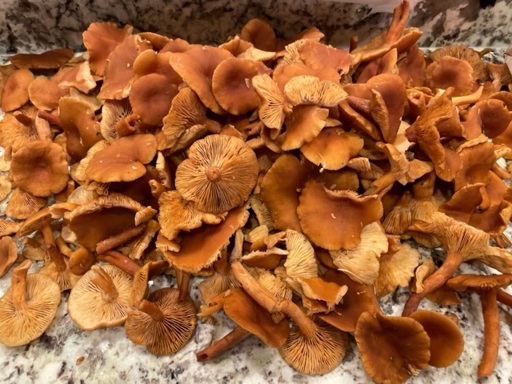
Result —
[[[379, 1], [377, 1], [379, 2]], [[379, 2], [380, 8], [385, 1]], [[389, 2], [388, 2], [389, 3]], [[410, 25], [425, 33], [421, 44], [435, 47], [448, 43], [504, 48], [512, 43], [512, 0], [421, 1], [411, 0], [414, 10]], [[384, 6], [385, 8], [385, 6]], [[115, 11], [114, 11], [115, 9]], [[204, 15], [208, 14], [209, 17]], [[316, 25], [328, 41], [345, 46], [350, 36], [361, 40], [380, 32], [389, 23], [388, 13], [373, 12], [360, 4], [327, 0], [145, 0], [98, 1], [3, 0], [0, 2], [0, 54], [32, 52], [68, 46], [82, 50], [81, 33], [90, 22], [113, 20], [129, 23], [143, 31], [154, 31], [193, 42], [219, 43], [250, 18], [269, 20], [278, 34], [286, 36]], [[510, 231], [508, 232], [509, 238]], [[37, 269], [34, 266], [33, 269]], [[479, 266], [463, 266], [467, 272]], [[194, 286], [197, 284], [194, 281]], [[171, 277], [159, 277], [152, 289], [172, 286]], [[0, 295], [10, 285], [10, 275], [0, 279]], [[43, 336], [27, 346], [6, 348], [0, 345], [0, 382], [2, 383], [366, 383], [357, 350], [352, 348], [344, 362], [333, 372], [308, 377], [284, 363], [278, 352], [250, 337], [228, 353], [209, 363], [196, 362], [195, 353], [226, 334], [233, 324], [217, 315], [219, 324], [198, 322], [194, 338], [174, 356], [156, 357], [144, 347], [132, 344], [123, 327], [85, 332], [66, 313], [67, 294], [57, 316]], [[197, 289], [193, 299], [199, 303]], [[398, 291], [381, 300], [386, 314], [400, 314], [407, 295]], [[476, 294], [463, 294], [462, 304], [440, 308], [429, 302], [423, 308], [435, 308], [455, 314], [464, 332], [465, 349], [460, 359], [444, 369], [428, 368], [411, 383], [475, 383], [482, 350], [482, 315]], [[496, 369], [482, 383], [512, 383], [512, 312], [500, 311], [501, 338]]]

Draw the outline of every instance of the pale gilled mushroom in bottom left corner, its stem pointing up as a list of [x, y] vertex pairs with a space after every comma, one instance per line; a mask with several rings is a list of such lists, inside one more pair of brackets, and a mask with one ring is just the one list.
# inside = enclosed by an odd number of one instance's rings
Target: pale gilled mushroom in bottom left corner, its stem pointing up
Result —
[[48, 276], [27, 276], [32, 261], [25, 260], [11, 276], [11, 287], [0, 298], [0, 343], [17, 347], [43, 334], [60, 302], [59, 286]]

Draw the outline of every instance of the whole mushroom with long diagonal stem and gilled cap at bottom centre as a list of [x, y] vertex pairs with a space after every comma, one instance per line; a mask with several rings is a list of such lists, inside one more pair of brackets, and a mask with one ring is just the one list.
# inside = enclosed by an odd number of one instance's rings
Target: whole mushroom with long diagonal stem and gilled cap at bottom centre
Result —
[[286, 343], [279, 348], [283, 359], [299, 372], [320, 375], [340, 364], [347, 348], [346, 334], [315, 323], [291, 300], [276, 299], [238, 261], [231, 268], [244, 290], [270, 313], [282, 312], [294, 321]]

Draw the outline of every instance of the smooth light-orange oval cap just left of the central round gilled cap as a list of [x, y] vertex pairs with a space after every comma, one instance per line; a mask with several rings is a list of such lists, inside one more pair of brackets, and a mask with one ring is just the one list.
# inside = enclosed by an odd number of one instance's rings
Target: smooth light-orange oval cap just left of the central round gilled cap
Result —
[[157, 141], [150, 134], [122, 137], [96, 152], [85, 169], [100, 183], [133, 181], [146, 173], [145, 164], [156, 155]]

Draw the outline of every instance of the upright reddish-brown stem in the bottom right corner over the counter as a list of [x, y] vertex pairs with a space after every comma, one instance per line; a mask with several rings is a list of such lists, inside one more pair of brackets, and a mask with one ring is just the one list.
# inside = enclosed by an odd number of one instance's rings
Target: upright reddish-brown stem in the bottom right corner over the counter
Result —
[[484, 317], [484, 352], [478, 366], [478, 377], [487, 377], [494, 371], [500, 343], [500, 314], [496, 288], [480, 291]]

